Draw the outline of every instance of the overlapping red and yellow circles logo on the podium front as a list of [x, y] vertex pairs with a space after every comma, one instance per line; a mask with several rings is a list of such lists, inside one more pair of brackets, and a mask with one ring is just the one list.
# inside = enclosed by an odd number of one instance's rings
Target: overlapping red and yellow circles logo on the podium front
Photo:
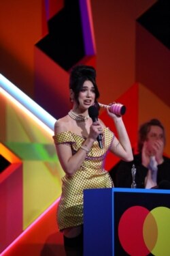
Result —
[[170, 255], [170, 209], [152, 210], [135, 205], [126, 210], [118, 224], [118, 237], [131, 256]]

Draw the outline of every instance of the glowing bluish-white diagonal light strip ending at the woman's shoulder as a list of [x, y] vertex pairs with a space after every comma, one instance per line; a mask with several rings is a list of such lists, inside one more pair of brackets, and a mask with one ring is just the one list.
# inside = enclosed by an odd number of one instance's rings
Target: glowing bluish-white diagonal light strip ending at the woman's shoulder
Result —
[[33, 115], [41, 120], [42, 123], [46, 124], [48, 128], [53, 130], [56, 119], [43, 108], [41, 108], [41, 106], [31, 100], [29, 96], [24, 94], [20, 89], [18, 89], [18, 87], [7, 80], [2, 74], [0, 74], [0, 89], [1, 88], [3, 89], [3, 94], [4, 91], [6, 91], [7, 94], [5, 95], [10, 95], [18, 102], [18, 104], [20, 103], [20, 106], [24, 106], [25, 109], [33, 113]]

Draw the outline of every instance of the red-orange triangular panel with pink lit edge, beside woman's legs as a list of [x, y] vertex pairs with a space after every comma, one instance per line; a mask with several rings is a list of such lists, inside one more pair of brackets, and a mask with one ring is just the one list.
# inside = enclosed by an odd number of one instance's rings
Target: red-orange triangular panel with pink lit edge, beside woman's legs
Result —
[[56, 223], [57, 205], [58, 200], [7, 247], [3, 256], [65, 256], [63, 234]]

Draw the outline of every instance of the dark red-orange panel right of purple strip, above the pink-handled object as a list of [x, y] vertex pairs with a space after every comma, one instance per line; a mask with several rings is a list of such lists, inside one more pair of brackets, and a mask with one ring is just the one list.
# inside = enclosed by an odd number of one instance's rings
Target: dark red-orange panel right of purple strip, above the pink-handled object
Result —
[[155, 2], [91, 0], [101, 101], [113, 102], [136, 82], [136, 18]]

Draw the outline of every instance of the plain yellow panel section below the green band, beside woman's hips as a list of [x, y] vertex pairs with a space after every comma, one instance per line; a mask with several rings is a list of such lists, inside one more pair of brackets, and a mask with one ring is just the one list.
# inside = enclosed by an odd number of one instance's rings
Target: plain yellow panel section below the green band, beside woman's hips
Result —
[[23, 229], [61, 195], [62, 169], [56, 163], [24, 161]]

